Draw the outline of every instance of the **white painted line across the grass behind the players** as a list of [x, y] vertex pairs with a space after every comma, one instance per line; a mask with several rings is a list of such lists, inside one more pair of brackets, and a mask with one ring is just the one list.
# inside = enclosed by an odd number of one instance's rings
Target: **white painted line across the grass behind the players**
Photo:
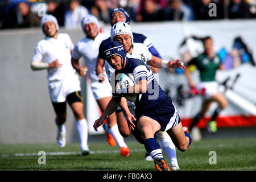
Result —
[[[222, 147], [233, 147], [233, 144], [218, 144], [218, 145], [201, 145], [201, 146], [191, 146], [190, 150], [200, 149], [200, 148], [222, 148]], [[130, 152], [143, 152], [144, 148], [133, 149]], [[90, 154], [110, 154], [110, 153], [119, 153], [119, 150], [100, 150], [100, 151], [90, 151]], [[146, 151], [145, 151], [146, 152]], [[78, 155], [81, 152], [46, 152], [46, 155]], [[13, 156], [38, 156], [38, 153], [18, 153], [18, 154], [0, 154], [0, 157], [13, 157]]]

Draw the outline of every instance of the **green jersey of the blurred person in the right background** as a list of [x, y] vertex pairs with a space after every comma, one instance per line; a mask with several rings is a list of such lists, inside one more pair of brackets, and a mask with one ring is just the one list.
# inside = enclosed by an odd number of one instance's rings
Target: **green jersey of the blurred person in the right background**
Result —
[[221, 62], [218, 55], [215, 55], [213, 59], [209, 59], [207, 55], [201, 53], [188, 62], [188, 65], [192, 64], [196, 65], [196, 68], [199, 70], [201, 81], [215, 81], [216, 71]]

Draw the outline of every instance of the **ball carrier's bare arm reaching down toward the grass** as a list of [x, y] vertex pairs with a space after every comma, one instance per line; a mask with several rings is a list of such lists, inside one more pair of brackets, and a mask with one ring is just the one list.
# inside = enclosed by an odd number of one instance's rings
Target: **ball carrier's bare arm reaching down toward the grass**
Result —
[[94, 122], [94, 130], [98, 131], [98, 127], [100, 127], [104, 120], [106, 118], [109, 117], [109, 115], [113, 114], [114, 111], [117, 109], [117, 107], [119, 106], [121, 102], [121, 97], [112, 97], [112, 99], [109, 101], [108, 106], [106, 106], [106, 109], [104, 110], [103, 114], [101, 115], [100, 118], [98, 118], [95, 122]]

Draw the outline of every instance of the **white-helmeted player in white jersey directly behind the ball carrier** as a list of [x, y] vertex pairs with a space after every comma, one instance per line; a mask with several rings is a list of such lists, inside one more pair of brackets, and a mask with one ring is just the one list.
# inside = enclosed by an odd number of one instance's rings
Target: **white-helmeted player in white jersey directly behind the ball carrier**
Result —
[[[133, 42], [133, 32], [129, 24], [125, 22], [118, 22], [114, 24], [110, 34], [112, 40], [115, 40], [123, 45], [125, 51], [127, 52], [127, 57], [142, 60], [145, 64], [149, 65], [149, 67], [151, 66], [155, 68], [159, 65], [159, 63], [163, 64], [163, 67], [166, 67], [166, 63], [168, 63], [168, 61], [163, 61], [162, 63], [162, 59], [153, 56], [145, 44]], [[105, 65], [109, 64], [106, 63]], [[108, 67], [106, 69], [108, 69]], [[113, 68], [109, 69], [109, 71], [112, 72]], [[127, 104], [129, 105], [130, 112], [134, 114], [135, 106], [133, 105], [132, 107], [130, 102], [127, 102]], [[126, 123], [122, 122], [121, 125], [126, 125]], [[160, 144], [162, 145], [162, 148], [170, 161], [171, 168], [179, 169], [177, 164], [175, 145], [171, 138], [165, 131], [158, 133], [158, 137], [160, 139]]]

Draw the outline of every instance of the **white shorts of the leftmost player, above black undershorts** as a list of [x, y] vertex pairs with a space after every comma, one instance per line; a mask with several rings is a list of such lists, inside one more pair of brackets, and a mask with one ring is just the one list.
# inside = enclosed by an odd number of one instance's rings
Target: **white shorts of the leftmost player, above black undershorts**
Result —
[[74, 74], [64, 80], [50, 81], [48, 89], [52, 102], [65, 102], [68, 94], [81, 91], [79, 77]]

